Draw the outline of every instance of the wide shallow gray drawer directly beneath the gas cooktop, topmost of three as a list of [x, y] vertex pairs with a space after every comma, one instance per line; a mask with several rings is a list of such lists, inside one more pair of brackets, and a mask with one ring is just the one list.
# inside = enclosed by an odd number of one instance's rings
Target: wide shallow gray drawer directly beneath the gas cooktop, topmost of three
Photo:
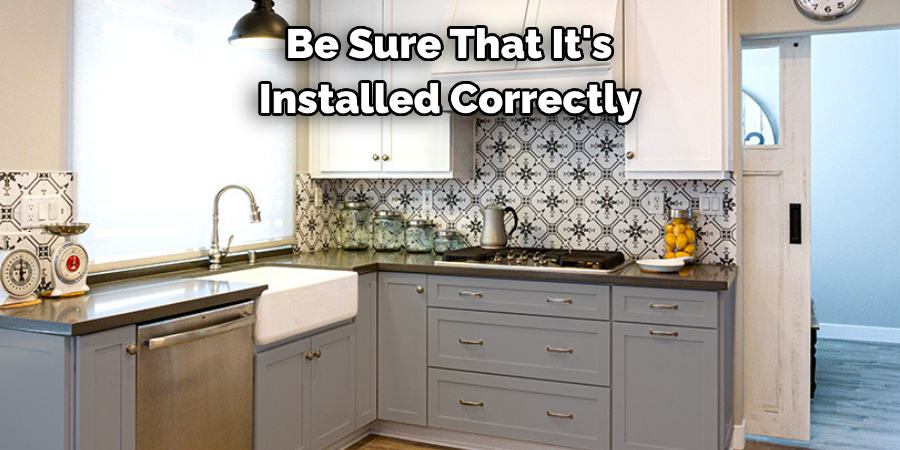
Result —
[[428, 305], [609, 320], [609, 286], [476, 277], [428, 277]]

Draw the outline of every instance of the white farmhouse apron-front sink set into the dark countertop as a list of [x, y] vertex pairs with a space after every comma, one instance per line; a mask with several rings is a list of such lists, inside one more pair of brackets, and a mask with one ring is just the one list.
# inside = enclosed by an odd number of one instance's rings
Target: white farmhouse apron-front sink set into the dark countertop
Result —
[[256, 345], [271, 344], [356, 317], [356, 272], [258, 267], [198, 279], [269, 285], [256, 300]]

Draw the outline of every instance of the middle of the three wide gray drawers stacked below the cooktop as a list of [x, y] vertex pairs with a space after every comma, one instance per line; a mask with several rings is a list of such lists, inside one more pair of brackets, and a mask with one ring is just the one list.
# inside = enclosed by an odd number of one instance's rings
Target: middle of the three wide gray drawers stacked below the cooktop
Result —
[[609, 386], [609, 322], [428, 309], [428, 364]]

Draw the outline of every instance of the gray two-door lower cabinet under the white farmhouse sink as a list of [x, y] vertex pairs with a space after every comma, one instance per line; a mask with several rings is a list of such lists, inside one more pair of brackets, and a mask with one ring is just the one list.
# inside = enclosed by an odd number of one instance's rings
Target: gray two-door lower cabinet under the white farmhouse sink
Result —
[[255, 356], [254, 448], [319, 450], [356, 429], [354, 327]]

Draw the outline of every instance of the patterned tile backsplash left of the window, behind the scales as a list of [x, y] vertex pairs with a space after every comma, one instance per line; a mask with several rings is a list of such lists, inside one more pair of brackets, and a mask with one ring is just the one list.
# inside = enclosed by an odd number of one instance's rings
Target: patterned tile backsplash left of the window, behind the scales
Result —
[[[0, 234], [22, 230], [20, 214], [26, 195], [60, 195], [60, 222], [75, 218], [75, 175], [72, 172], [0, 172]], [[27, 236], [10, 236], [9, 248], [35, 252], [41, 261], [39, 291], [50, 288], [50, 255], [62, 245], [63, 238], [28, 230]], [[2, 292], [2, 291], [0, 291]]]

